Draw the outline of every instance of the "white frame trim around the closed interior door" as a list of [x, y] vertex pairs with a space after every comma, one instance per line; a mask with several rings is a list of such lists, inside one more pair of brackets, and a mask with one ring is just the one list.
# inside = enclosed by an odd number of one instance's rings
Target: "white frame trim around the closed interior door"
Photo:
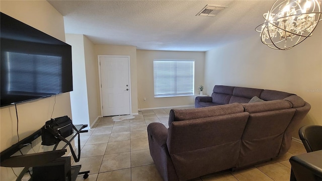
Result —
[[131, 61], [130, 56], [128, 55], [98, 55], [98, 66], [99, 66], [99, 86], [100, 86], [100, 103], [101, 103], [101, 117], [103, 117], [103, 98], [102, 98], [102, 78], [101, 78], [101, 64], [100, 58], [101, 57], [126, 57], [128, 63], [128, 70], [129, 70], [129, 104], [130, 104], [130, 115], [132, 115], [132, 86], [131, 86]]

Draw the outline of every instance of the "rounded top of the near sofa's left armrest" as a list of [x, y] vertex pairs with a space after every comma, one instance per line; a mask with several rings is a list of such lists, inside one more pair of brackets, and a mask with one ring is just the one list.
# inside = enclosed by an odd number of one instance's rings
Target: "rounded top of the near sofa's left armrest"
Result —
[[147, 126], [147, 135], [149, 143], [158, 146], [167, 145], [168, 129], [162, 123], [150, 123]]

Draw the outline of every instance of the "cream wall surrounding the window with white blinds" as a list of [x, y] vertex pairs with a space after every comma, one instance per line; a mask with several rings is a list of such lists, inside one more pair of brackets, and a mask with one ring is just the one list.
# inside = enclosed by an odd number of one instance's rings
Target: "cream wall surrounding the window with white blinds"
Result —
[[[154, 98], [153, 60], [195, 60], [195, 94], [203, 84], [205, 52], [137, 50], [138, 106], [140, 109], [194, 105], [194, 96]], [[207, 92], [204, 91], [203, 94]], [[146, 98], [146, 101], [144, 101]]]

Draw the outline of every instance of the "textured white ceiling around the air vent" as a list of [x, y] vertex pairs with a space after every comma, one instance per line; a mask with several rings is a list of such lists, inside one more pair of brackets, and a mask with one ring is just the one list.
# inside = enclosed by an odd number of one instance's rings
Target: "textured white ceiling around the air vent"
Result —
[[[94, 44], [144, 50], [207, 51], [258, 34], [274, 1], [48, 1], [64, 16], [65, 33]], [[215, 17], [196, 16], [206, 5], [227, 6]], [[260, 41], [260, 36], [258, 36]], [[246, 45], [247, 46], [247, 45]]]

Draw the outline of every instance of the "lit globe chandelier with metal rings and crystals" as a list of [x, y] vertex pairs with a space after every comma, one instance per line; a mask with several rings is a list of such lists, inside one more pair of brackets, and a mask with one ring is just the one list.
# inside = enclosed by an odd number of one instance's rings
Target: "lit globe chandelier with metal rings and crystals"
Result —
[[276, 1], [256, 27], [264, 44], [273, 49], [288, 50], [312, 35], [322, 12], [317, 0]]

